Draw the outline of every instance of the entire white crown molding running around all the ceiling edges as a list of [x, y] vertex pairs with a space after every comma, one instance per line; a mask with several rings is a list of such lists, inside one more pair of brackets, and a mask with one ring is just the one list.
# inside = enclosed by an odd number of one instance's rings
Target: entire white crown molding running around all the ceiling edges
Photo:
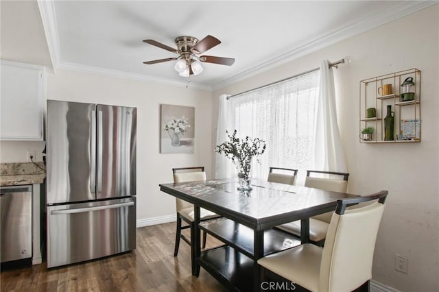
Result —
[[[58, 38], [58, 25], [56, 23], [56, 12], [54, 7], [54, 0], [37, 0], [38, 8], [40, 10], [41, 19], [43, 21], [43, 26], [45, 29], [45, 35], [47, 38], [47, 46], [49, 47], [49, 54], [52, 61], [52, 66], [54, 71], [56, 69], [63, 69], [68, 71], [78, 71], [87, 73], [97, 73], [101, 75], [107, 75], [112, 77], [121, 77], [130, 80], [137, 80], [142, 82], [152, 82], [158, 84], [165, 84], [170, 86], [187, 87], [186, 82], [178, 82], [176, 80], [170, 80], [166, 78], [154, 77], [149, 75], [141, 75], [135, 73], [128, 73], [123, 71], [115, 71], [110, 69], [97, 68], [92, 66], [84, 66], [81, 64], [72, 64], [60, 61], [60, 42]], [[314, 40], [302, 43], [292, 51], [287, 51], [275, 58], [267, 60], [257, 66], [242, 71], [241, 73], [235, 74], [233, 76], [227, 77], [219, 82], [214, 82], [210, 85], [205, 84], [195, 84], [191, 83], [189, 87], [196, 88], [200, 90], [212, 91], [231, 84], [235, 84], [241, 80], [245, 80], [249, 77], [263, 73], [277, 66], [305, 56], [314, 51], [318, 51], [329, 45], [333, 45], [336, 42], [345, 40], [346, 38], [351, 38], [362, 32], [366, 32], [370, 29], [383, 25], [395, 19], [399, 19], [403, 16], [427, 8], [431, 5], [435, 5], [439, 1], [403, 1], [401, 3], [396, 3], [388, 10], [383, 11], [380, 14], [373, 14], [367, 16], [364, 19], [342, 27], [342, 29], [337, 29], [329, 34], [324, 34]]]

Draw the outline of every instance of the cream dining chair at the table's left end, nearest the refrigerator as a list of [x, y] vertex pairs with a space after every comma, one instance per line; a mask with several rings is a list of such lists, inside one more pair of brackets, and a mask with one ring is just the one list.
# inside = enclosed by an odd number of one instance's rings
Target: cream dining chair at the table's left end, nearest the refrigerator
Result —
[[[200, 180], [206, 180], [206, 172], [204, 167], [180, 167], [173, 168], [172, 173], [174, 175], [174, 182], [195, 182]], [[190, 228], [193, 230], [194, 215], [193, 204], [186, 202], [185, 200], [178, 199], [176, 197], [176, 211], [177, 211], [177, 230], [176, 230], [176, 245], [174, 247], [174, 256], [178, 255], [178, 248], [180, 247], [180, 239], [183, 239], [186, 243], [191, 245], [191, 239], [188, 239], [185, 234], [182, 234], [181, 230]], [[200, 219], [212, 219], [219, 217], [214, 212], [200, 208]], [[182, 221], [187, 223], [187, 226], [182, 226]], [[202, 247], [206, 246], [206, 233], [203, 232]]]

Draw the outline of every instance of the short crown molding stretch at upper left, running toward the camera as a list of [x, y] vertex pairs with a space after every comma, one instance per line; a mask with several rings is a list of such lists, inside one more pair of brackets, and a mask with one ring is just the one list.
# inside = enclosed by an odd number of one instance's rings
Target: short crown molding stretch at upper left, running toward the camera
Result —
[[56, 68], [60, 64], [60, 40], [58, 38], [58, 25], [56, 24], [54, 1], [37, 0], [36, 2], [40, 10], [41, 21], [43, 21], [52, 68], [54, 72], [56, 72]]

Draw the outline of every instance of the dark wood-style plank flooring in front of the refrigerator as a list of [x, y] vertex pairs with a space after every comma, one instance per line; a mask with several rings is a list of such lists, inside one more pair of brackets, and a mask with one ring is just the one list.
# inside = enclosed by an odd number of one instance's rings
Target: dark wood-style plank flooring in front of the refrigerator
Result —
[[[192, 276], [184, 241], [174, 258], [175, 228], [175, 223], [137, 228], [136, 250], [116, 256], [52, 269], [45, 263], [4, 269], [0, 291], [227, 291], [204, 269]], [[208, 236], [206, 247], [218, 244]]]

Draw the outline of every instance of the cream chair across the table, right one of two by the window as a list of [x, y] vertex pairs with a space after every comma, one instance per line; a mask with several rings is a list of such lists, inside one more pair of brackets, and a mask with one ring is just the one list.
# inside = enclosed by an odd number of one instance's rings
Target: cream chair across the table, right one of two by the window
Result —
[[[314, 175], [320, 175], [320, 177], [316, 177]], [[309, 188], [319, 188], [325, 191], [346, 193], [348, 188], [348, 178], [349, 173], [333, 171], [307, 171], [305, 186]], [[309, 219], [309, 239], [311, 242], [317, 243], [318, 245], [324, 244], [324, 239], [327, 236], [332, 214], [333, 212], [327, 212]], [[300, 220], [285, 223], [280, 226], [276, 226], [276, 228], [296, 236], [300, 236]]]

